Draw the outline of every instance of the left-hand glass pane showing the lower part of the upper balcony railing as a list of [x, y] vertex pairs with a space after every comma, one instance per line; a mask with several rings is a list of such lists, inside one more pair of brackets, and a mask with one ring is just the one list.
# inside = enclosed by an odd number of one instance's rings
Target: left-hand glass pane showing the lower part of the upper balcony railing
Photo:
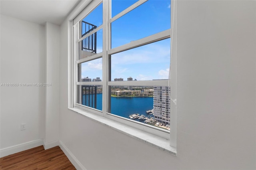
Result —
[[96, 33], [86, 37], [78, 43], [79, 58], [82, 59], [88, 56], [102, 52], [102, 29]]

